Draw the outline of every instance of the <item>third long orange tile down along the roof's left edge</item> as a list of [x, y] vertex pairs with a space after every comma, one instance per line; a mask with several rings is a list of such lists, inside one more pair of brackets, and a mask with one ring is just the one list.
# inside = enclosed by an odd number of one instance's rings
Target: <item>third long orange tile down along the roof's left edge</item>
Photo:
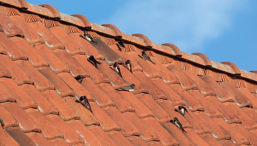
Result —
[[11, 73], [11, 77], [16, 84], [21, 85], [24, 83], [33, 83], [32, 79], [6, 55], [0, 54], [0, 60], [1, 65], [3, 65]]

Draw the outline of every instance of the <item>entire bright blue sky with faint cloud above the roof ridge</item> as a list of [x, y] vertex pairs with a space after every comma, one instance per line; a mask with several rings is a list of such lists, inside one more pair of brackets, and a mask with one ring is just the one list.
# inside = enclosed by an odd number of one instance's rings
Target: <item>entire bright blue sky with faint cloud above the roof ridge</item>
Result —
[[112, 24], [121, 32], [146, 35], [158, 44], [172, 43], [187, 53], [257, 70], [257, 1], [239, 0], [26, 0], [51, 4], [59, 12], [81, 14], [90, 22]]

